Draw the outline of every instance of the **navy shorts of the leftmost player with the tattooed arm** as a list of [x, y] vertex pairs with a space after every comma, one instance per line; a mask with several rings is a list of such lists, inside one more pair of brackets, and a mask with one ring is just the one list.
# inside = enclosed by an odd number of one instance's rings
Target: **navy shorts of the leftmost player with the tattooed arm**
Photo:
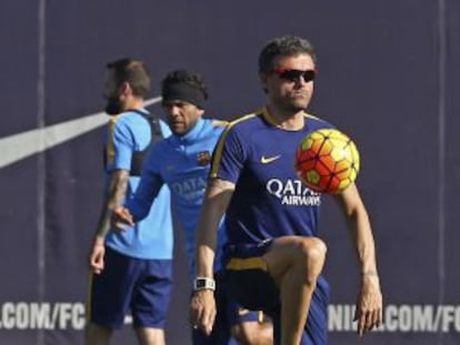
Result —
[[164, 328], [171, 287], [171, 260], [130, 257], [106, 246], [104, 270], [90, 274], [87, 317], [120, 328], [131, 312], [134, 327]]

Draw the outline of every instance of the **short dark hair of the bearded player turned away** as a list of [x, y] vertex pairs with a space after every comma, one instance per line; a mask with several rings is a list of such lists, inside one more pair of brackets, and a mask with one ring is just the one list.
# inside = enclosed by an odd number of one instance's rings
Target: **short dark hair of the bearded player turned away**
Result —
[[130, 84], [132, 93], [142, 99], [150, 92], [150, 72], [146, 63], [131, 58], [119, 59], [107, 64], [108, 70], [113, 70], [117, 85], [123, 82]]

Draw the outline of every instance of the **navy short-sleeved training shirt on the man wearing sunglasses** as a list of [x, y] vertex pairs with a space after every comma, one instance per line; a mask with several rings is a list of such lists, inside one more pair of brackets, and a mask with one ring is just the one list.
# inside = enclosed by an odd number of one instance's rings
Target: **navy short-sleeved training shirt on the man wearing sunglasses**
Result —
[[267, 109], [228, 125], [211, 171], [237, 184], [226, 215], [228, 244], [317, 235], [321, 195], [299, 180], [293, 165], [301, 139], [320, 128], [332, 125], [306, 113], [301, 130], [281, 129]]

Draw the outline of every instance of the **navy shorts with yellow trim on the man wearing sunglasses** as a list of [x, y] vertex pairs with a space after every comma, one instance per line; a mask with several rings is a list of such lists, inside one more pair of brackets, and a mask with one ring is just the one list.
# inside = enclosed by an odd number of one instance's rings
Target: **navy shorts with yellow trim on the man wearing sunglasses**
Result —
[[[261, 310], [273, 323], [276, 341], [280, 339], [281, 304], [279, 290], [267, 271], [262, 256], [272, 241], [259, 244], [229, 245], [223, 255], [223, 282], [230, 300], [250, 310]], [[329, 284], [320, 276], [314, 290], [301, 345], [326, 345]]]

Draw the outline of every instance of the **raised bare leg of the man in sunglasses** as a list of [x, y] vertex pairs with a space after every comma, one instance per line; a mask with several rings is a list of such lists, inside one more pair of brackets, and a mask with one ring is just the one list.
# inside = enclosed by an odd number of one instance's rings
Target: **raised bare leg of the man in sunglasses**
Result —
[[263, 256], [280, 288], [281, 345], [298, 345], [327, 247], [317, 237], [284, 236]]

